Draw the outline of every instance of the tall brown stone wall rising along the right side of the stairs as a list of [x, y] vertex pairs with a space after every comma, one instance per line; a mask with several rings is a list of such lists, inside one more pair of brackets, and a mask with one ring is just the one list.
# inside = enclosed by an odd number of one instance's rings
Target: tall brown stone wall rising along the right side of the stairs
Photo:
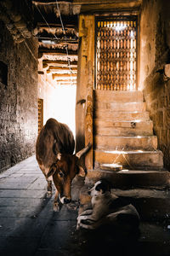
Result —
[[170, 2], [144, 0], [140, 19], [139, 89], [144, 99], [164, 165], [170, 168], [170, 81], [164, 67], [170, 63]]

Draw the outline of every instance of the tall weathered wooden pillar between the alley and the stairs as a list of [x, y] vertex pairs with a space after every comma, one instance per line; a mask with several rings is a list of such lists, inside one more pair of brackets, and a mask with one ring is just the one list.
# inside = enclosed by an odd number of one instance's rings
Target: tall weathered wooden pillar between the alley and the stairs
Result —
[[[94, 15], [80, 15], [79, 20], [79, 37], [82, 40], [81, 60], [79, 63], [85, 72], [80, 74], [82, 80], [81, 86], [84, 87], [86, 93], [86, 108], [84, 119], [84, 136], [85, 145], [92, 144], [85, 157], [85, 164], [88, 170], [94, 168], [94, 152], [93, 152], [93, 92], [94, 92]], [[82, 77], [85, 74], [85, 77]]]

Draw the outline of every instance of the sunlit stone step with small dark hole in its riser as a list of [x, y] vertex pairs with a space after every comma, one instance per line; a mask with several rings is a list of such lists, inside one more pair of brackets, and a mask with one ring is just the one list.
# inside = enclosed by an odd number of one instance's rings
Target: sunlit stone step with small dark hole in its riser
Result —
[[109, 136], [150, 136], [153, 135], [152, 121], [112, 121], [112, 119], [94, 119], [94, 133]]

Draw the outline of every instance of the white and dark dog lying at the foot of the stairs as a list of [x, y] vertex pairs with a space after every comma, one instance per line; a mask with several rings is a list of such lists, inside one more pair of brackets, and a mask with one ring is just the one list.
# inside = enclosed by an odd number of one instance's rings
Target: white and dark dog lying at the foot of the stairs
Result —
[[77, 230], [95, 230], [104, 224], [126, 226], [130, 229], [139, 228], [139, 212], [129, 201], [112, 194], [108, 181], [99, 180], [94, 183], [88, 195], [92, 197], [92, 209], [83, 211], [77, 217]]

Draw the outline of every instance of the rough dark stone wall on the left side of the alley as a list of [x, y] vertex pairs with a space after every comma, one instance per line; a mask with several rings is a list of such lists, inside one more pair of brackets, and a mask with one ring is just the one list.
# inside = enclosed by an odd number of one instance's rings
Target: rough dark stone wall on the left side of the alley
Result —
[[34, 38], [15, 44], [3, 21], [0, 21], [0, 32], [0, 63], [8, 69], [7, 83], [0, 79], [2, 171], [35, 153], [38, 45]]

